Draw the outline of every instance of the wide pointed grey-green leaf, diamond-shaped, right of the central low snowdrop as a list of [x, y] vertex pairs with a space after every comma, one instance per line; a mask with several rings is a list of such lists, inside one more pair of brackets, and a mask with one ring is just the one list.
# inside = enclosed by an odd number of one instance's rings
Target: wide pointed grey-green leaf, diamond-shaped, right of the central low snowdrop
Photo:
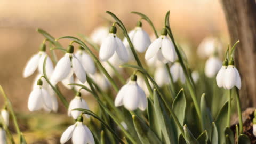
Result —
[[172, 109], [177, 118], [179, 119], [180, 124], [183, 125], [186, 112], [186, 97], [184, 95], [183, 89], [181, 89], [177, 96], [175, 97], [172, 104]]

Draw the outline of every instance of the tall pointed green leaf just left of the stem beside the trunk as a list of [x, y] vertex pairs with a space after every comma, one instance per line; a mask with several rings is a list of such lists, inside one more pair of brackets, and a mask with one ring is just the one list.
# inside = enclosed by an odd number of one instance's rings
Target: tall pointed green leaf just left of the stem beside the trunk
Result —
[[228, 102], [226, 102], [225, 105], [221, 108], [215, 121], [220, 143], [225, 142], [224, 130], [227, 125], [227, 118], [228, 118]]

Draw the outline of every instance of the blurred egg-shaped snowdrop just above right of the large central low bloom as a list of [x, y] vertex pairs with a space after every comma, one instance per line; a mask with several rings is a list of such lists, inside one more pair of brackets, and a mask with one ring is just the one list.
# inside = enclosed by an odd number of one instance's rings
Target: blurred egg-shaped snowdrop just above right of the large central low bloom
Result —
[[168, 71], [166, 70], [163, 64], [156, 68], [154, 79], [157, 85], [160, 87], [170, 82]]

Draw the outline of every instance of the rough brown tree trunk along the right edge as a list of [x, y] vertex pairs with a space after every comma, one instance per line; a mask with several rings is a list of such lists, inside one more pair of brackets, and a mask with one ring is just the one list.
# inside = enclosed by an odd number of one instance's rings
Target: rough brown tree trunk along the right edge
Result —
[[256, 2], [222, 0], [231, 43], [238, 39], [235, 63], [242, 78], [243, 107], [256, 106]]

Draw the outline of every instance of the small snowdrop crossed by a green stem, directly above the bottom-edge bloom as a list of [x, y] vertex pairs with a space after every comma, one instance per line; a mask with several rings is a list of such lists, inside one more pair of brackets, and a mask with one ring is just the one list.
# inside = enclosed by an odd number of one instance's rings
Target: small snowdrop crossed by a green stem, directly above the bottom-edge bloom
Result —
[[[77, 119], [77, 117], [82, 114], [82, 111], [73, 110], [75, 108], [89, 109], [85, 100], [81, 98], [81, 92], [77, 92], [75, 98], [70, 101], [68, 106], [68, 116], [72, 116], [74, 119]], [[87, 118], [90, 118], [89, 115], [85, 115], [85, 116]]]

